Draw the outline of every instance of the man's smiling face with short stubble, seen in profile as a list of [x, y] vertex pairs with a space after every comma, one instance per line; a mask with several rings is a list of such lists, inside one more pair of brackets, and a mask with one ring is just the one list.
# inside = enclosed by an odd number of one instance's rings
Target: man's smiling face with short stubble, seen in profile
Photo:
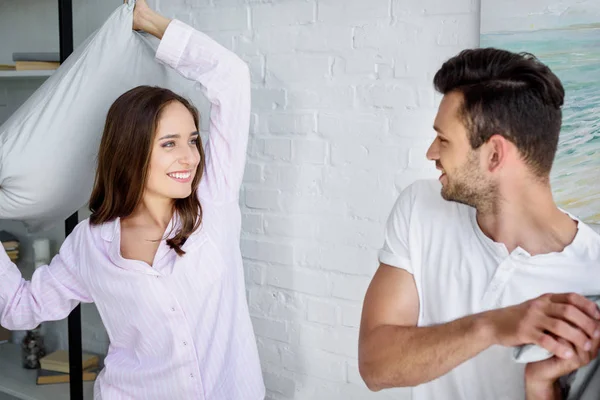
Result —
[[480, 151], [473, 150], [469, 133], [460, 116], [463, 97], [460, 92], [446, 94], [434, 122], [437, 136], [427, 150], [442, 172], [442, 197], [478, 207], [490, 200], [494, 185], [484, 174]]

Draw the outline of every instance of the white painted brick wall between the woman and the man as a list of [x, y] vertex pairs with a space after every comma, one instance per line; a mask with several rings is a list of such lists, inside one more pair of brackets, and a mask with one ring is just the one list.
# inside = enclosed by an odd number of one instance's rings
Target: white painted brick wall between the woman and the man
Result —
[[362, 300], [399, 190], [435, 176], [431, 80], [477, 46], [478, 1], [159, 1], [252, 71], [242, 251], [268, 398], [408, 399], [360, 379]]

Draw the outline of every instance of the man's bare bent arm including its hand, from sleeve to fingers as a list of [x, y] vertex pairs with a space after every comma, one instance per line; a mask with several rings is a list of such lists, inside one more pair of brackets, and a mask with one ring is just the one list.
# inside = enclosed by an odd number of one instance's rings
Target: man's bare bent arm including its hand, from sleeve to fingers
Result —
[[[597, 351], [600, 338], [595, 336], [600, 332], [596, 304], [574, 293], [545, 294], [429, 327], [416, 326], [418, 315], [413, 276], [381, 264], [367, 290], [359, 338], [359, 369], [371, 390], [431, 381], [493, 344], [535, 343], [556, 361], [569, 360], [559, 363], [568, 366], [584, 358], [576, 354]], [[530, 375], [553, 388], [561, 375], [552, 374], [550, 362], [540, 362]]]

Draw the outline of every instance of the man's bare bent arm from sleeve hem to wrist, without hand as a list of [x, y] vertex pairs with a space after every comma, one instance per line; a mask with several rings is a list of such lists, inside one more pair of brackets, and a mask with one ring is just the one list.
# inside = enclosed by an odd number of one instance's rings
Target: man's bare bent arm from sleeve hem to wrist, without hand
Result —
[[413, 276], [381, 264], [367, 290], [359, 339], [359, 369], [371, 390], [416, 386], [442, 376], [493, 344], [481, 314], [417, 327]]

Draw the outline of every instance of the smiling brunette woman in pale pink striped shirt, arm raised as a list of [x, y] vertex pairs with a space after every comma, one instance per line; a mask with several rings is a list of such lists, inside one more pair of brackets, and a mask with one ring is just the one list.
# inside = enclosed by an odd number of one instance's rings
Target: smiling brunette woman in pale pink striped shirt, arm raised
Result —
[[239, 249], [247, 66], [145, 0], [133, 28], [161, 39], [156, 58], [205, 87], [206, 158], [185, 99], [152, 87], [123, 94], [108, 112], [89, 220], [31, 282], [0, 252], [1, 325], [29, 329], [95, 302], [110, 338], [95, 399], [263, 399]]

